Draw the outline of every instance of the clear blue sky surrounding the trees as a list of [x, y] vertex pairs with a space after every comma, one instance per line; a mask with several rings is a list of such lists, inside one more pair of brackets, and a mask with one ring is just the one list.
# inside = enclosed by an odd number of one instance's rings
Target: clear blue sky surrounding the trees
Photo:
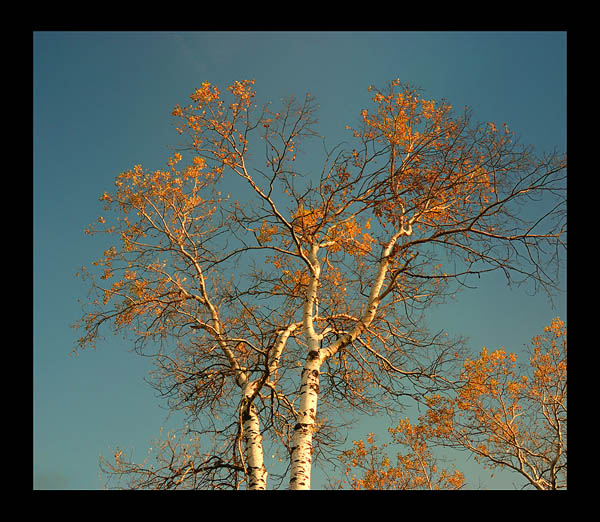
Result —
[[[316, 96], [320, 130], [339, 142], [366, 107], [369, 85], [393, 78], [426, 98], [506, 122], [540, 151], [566, 152], [564, 32], [35, 32], [33, 33], [33, 483], [98, 489], [98, 455], [143, 458], [165, 425], [143, 379], [148, 362], [107, 338], [69, 357], [86, 288], [75, 277], [102, 253], [84, 229], [122, 171], [165, 166], [178, 140], [171, 110], [203, 81], [222, 90], [256, 80], [260, 101]], [[501, 278], [434, 310], [431, 326], [470, 336], [478, 351], [519, 353], [555, 316], [543, 296]], [[566, 280], [563, 281], [566, 289]], [[372, 420], [371, 427], [372, 430]], [[382, 429], [385, 429], [382, 425]], [[366, 433], [366, 429], [364, 433]], [[364, 436], [359, 433], [359, 436]], [[465, 473], [474, 485], [479, 471]], [[471, 469], [472, 467], [472, 469]], [[510, 479], [489, 480], [511, 487]], [[318, 476], [313, 485], [318, 487]]]

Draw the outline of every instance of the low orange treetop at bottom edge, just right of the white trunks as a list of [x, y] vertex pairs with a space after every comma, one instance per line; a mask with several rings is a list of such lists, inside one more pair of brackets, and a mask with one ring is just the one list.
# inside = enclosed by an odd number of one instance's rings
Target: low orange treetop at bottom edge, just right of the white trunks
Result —
[[[367, 444], [354, 441], [354, 447], [344, 451], [340, 460], [345, 464], [346, 480], [338, 482], [343, 487], [349, 484], [352, 489], [460, 489], [464, 485], [463, 474], [454, 469], [439, 469], [437, 459], [427, 446], [429, 428], [425, 424], [411, 425], [408, 419], [401, 420], [397, 427], [390, 428], [393, 444], [408, 451], [396, 455], [396, 465], [387, 456], [385, 448], [378, 446], [375, 436], [369, 433]], [[362, 471], [362, 478], [356, 471]]]

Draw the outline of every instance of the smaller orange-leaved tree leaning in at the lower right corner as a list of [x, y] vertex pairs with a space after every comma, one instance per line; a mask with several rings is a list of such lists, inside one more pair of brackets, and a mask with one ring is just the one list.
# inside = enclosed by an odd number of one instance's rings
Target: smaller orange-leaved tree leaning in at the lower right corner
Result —
[[510, 469], [539, 490], [567, 486], [567, 328], [559, 318], [532, 339], [529, 366], [485, 348], [466, 360], [456, 397], [429, 398], [421, 418], [435, 442]]

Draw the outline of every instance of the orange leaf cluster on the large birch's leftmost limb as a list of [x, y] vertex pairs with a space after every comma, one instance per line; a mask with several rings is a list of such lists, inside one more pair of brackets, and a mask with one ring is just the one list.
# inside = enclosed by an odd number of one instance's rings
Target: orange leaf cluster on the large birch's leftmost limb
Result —
[[[88, 333], [80, 339], [81, 346], [94, 342], [98, 326], [107, 318], [115, 330], [128, 328], [139, 338], [166, 335], [174, 316], [180, 323], [186, 321], [189, 303], [182, 292], [189, 285], [181, 267], [187, 274], [197, 273], [190, 271], [187, 258], [182, 262], [183, 251], [197, 252], [204, 238], [220, 226], [213, 216], [223, 198], [215, 190], [215, 170], [207, 168], [204, 158], [196, 156], [178, 170], [182, 160], [176, 152], [167, 169], [148, 171], [135, 165], [117, 177], [113, 194], [101, 197], [105, 210], [116, 214], [112, 226], [108, 227], [111, 218], [105, 214], [86, 233], [113, 233], [120, 245], [94, 262], [103, 272], [93, 282], [99, 299], [90, 306], [111, 301], [113, 309], [82, 323]], [[99, 229], [102, 225], [104, 230]], [[109, 279], [116, 281], [101, 286]]]

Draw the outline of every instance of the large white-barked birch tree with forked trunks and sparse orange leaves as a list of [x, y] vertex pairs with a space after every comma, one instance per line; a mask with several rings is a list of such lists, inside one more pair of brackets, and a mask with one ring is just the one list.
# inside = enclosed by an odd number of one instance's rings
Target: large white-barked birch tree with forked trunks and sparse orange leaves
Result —
[[427, 330], [428, 306], [492, 271], [557, 284], [566, 158], [399, 80], [370, 88], [352, 143], [328, 148], [312, 96], [259, 107], [253, 84], [225, 96], [205, 82], [177, 105], [166, 168], [118, 176], [112, 217], [88, 231], [116, 245], [81, 271], [79, 346], [106, 327], [132, 335], [186, 416], [162, 464], [105, 465], [132, 487], [265, 489], [268, 444], [288, 463], [277, 480], [308, 489], [341, 412], [393, 413], [453, 385], [461, 340]]

